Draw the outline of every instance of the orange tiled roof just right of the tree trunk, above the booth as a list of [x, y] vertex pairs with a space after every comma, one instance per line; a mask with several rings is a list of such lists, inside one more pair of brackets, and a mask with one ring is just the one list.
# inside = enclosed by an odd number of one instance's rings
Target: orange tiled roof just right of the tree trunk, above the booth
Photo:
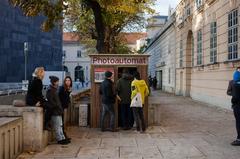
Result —
[[126, 41], [126, 44], [136, 44], [137, 40], [146, 38], [147, 33], [140, 33], [140, 32], [135, 32], [135, 33], [120, 33], [120, 36], [122, 36], [122, 40]]

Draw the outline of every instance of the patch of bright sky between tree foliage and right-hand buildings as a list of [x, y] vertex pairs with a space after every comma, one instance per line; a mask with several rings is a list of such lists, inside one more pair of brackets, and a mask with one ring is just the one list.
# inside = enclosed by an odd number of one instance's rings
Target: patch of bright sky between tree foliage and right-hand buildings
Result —
[[156, 0], [153, 8], [156, 10], [156, 13], [160, 15], [168, 15], [169, 5], [175, 9], [179, 2], [180, 0]]

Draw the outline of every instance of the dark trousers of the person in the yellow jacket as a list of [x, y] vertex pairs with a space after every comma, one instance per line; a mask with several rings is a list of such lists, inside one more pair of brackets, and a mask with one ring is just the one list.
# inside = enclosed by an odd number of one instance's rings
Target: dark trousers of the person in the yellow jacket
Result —
[[145, 131], [146, 125], [144, 121], [143, 108], [142, 107], [132, 107], [134, 120], [136, 121], [137, 130]]

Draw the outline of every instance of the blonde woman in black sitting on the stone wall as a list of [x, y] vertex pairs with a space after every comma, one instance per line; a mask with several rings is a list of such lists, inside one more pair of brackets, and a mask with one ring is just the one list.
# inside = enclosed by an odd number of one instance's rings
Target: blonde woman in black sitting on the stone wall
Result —
[[33, 79], [28, 86], [26, 104], [29, 106], [45, 107], [45, 98], [42, 94], [45, 71], [43, 67], [37, 67], [33, 73]]

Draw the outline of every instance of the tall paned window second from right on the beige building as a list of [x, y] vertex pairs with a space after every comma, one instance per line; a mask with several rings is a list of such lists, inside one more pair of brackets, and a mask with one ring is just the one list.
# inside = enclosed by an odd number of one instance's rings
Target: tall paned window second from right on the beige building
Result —
[[217, 22], [210, 25], [210, 62], [217, 62]]

